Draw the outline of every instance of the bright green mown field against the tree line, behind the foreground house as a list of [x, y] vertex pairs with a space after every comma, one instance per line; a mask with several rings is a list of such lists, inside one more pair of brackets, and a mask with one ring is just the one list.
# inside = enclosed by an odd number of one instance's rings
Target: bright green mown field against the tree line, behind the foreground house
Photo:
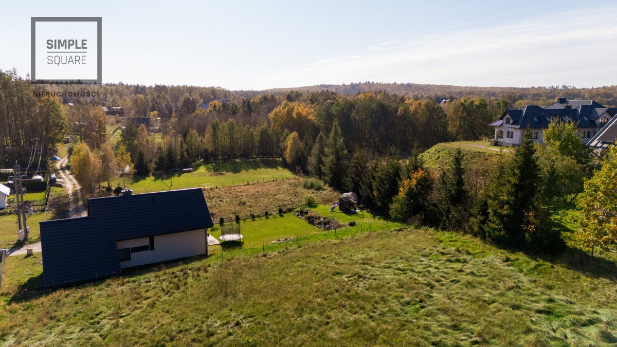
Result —
[[[197, 188], [203, 184], [212, 187], [242, 185], [247, 182], [263, 182], [295, 177], [284, 168], [280, 160], [238, 160], [216, 162], [213, 164], [196, 164], [194, 171], [186, 174], [155, 174], [149, 177], [136, 176], [127, 188], [135, 193], [162, 191], [181, 188]], [[122, 181], [117, 182], [122, 185]]]

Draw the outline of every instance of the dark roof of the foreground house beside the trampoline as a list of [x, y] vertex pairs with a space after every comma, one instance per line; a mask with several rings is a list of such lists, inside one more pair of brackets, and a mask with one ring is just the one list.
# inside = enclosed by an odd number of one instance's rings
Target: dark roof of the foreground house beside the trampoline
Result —
[[46, 286], [120, 274], [116, 242], [213, 226], [200, 188], [88, 200], [88, 216], [41, 222]]

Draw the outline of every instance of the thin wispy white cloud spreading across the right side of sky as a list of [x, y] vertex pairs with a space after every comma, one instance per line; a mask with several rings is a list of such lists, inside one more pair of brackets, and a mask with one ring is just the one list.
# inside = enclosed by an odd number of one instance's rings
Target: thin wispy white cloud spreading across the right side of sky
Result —
[[611, 85], [617, 81], [616, 24], [617, 8], [525, 15], [507, 25], [445, 30], [408, 43], [338, 54], [257, 78], [253, 87], [360, 80], [476, 86]]

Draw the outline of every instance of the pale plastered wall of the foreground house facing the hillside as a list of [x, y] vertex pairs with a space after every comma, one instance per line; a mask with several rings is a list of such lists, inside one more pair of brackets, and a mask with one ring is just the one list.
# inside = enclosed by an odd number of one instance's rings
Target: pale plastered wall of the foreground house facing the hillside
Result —
[[[117, 249], [149, 246], [148, 237], [123, 240], [116, 243]], [[206, 230], [191, 230], [189, 232], [171, 233], [154, 236], [154, 250], [131, 253], [130, 261], [121, 261], [120, 269], [136, 265], [152, 264], [170, 261], [207, 253]]]

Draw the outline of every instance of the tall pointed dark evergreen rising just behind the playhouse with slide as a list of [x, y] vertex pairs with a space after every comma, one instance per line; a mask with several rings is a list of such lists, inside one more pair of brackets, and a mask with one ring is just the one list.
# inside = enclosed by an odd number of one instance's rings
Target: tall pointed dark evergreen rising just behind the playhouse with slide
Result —
[[337, 120], [332, 123], [332, 130], [328, 136], [324, 154], [323, 165], [321, 165], [324, 179], [328, 185], [341, 188], [343, 175], [346, 171], [347, 149]]

